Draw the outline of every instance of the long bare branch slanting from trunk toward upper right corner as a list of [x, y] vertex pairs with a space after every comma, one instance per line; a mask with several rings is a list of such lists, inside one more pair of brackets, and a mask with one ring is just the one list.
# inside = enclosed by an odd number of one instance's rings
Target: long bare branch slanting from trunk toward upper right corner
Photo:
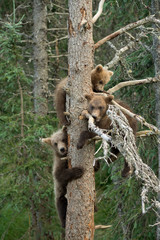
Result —
[[94, 45], [94, 48], [97, 49], [98, 47], [100, 47], [102, 44], [104, 44], [105, 42], [121, 35], [122, 33], [125, 33], [126, 31], [129, 31], [133, 28], [136, 28], [140, 25], [143, 25], [143, 24], [146, 24], [148, 22], [154, 22], [154, 23], [157, 23], [157, 24], [160, 24], [160, 20], [156, 19], [155, 18], [155, 15], [151, 15], [149, 17], [146, 17], [146, 18], [143, 18], [137, 22], [134, 22], [134, 23], [130, 23], [128, 25], [126, 25], [125, 27], [123, 28], [120, 28], [119, 30], [117, 30], [116, 32], [114, 33], [111, 33], [110, 35], [106, 36], [105, 38], [101, 39], [100, 41], [98, 41], [95, 45]]

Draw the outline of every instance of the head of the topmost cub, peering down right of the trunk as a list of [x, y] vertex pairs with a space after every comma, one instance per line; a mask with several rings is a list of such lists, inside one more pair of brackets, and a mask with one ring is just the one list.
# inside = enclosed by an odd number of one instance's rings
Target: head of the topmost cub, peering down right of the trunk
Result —
[[112, 75], [112, 71], [108, 71], [101, 64], [97, 65], [91, 72], [93, 92], [102, 92], [104, 86], [110, 81]]

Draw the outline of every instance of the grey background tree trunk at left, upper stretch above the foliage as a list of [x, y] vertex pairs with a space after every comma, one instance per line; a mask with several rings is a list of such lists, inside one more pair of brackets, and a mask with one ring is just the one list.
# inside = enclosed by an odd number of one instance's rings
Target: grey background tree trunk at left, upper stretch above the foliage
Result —
[[34, 108], [39, 115], [48, 112], [47, 6], [34, 0]]

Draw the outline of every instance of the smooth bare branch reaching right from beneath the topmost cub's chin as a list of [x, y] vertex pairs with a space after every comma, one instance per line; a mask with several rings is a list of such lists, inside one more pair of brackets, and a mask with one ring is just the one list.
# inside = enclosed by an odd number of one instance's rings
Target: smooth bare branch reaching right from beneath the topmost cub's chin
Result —
[[133, 80], [133, 81], [126, 81], [126, 82], [121, 82], [118, 83], [116, 86], [114, 86], [113, 88], [110, 88], [107, 90], [107, 93], [112, 94], [116, 91], [118, 91], [119, 89], [126, 87], [126, 86], [134, 86], [134, 85], [141, 85], [141, 84], [145, 84], [145, 83], [155, 83], [155, 82], [159, 82], [160, 81], [160, 76], [159, 77], [154, 77], [154, 78], [145, 78], [145, 79], [141, 79], [141, 80]]

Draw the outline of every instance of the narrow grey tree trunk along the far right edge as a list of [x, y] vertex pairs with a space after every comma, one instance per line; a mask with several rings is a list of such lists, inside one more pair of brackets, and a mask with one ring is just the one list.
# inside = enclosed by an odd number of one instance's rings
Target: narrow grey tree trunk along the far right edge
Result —
[[[152, 0], [152, 11], [156, 14], [156, 18], [160, 18], [160, 2], [159, 0]], [[160, 39], [158, 36], [153, 38], [153, 60], [155, 66], [155, 76], [160, 75]], [[160, 130], [160, 83], [155, 83], [156, 94], [156, 121], [157, 127]], [[160, 137], [158, 137], [160, 141]], [[158, 177], [160, 179], [160, 143], [158, 143]], [[158, 194], [158, 201], [160, 202], [160, 193]], [[158, 209], [158, 215], [160, 216], [160, 209]], [[157, 219], [160, 222], [160, 217]], [[160, 240], [160, 225], [157, 226], [157, 240]]]

